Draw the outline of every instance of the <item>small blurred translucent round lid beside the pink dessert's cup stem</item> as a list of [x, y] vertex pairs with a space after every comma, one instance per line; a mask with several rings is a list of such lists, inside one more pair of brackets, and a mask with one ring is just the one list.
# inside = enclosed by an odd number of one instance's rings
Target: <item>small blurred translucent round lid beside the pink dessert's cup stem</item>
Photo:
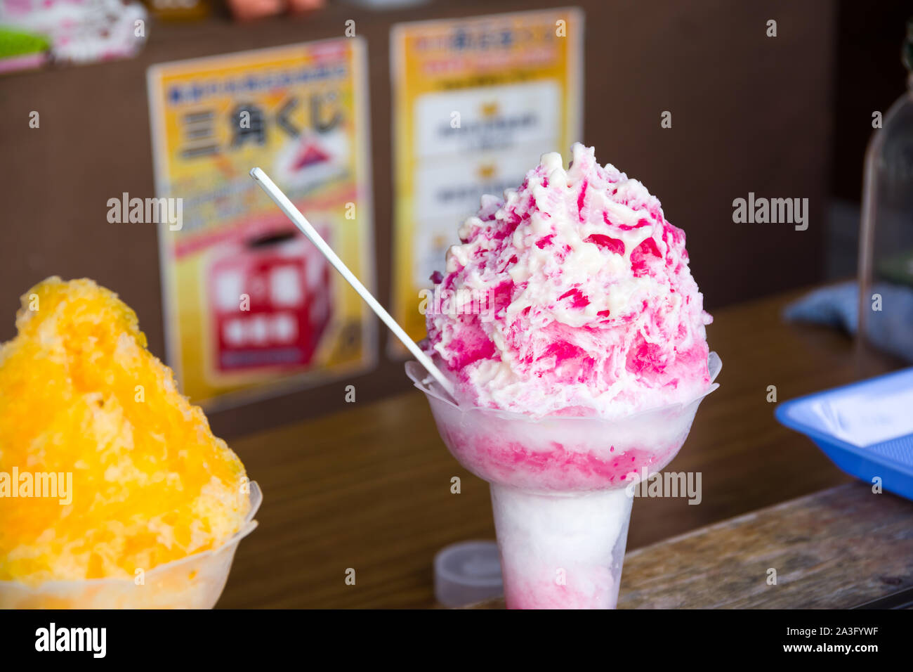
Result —
[[435, 556], [435, 597], [446, 607], [462, 607], [500, 597], [501, 562], [494, 541], [463, 541]]

